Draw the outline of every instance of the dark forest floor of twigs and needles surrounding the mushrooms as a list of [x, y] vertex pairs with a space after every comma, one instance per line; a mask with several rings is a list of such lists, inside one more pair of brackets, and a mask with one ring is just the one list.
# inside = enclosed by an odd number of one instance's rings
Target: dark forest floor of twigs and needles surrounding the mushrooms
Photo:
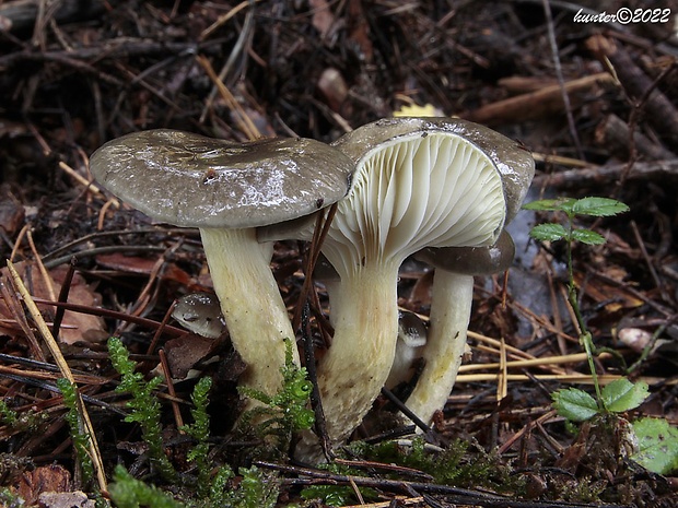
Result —
[[[578, 305], [596, 346], [613, 352], [596, 357], [601, 382], [627, 376], [650, 386], [623, 422], [678, 425], [676, 2], [84, 3], [0, 0], [0, 485], [10, 488], [0, 504], [19, 506], [11, 498], [20, 496], [25, 506], [85, 506], [78, 493], [97, 492], [116, 464], [177, 498], [197, 496], [186, 480], [196, 476], [189, 440], [178, 432], [180, 418], [190, 422], [191, 383], [177, 382], [171, 397], [157, 389], [163, 453], [185, 479], [173, 484], [149, 469], [148, 442], [124, 422], [127, 398], [114, 391], [106, 348], [120, 336], [144, 375], [161, 350], [186, 359], [173, 364], [174, 378], [213, 353], [204, 341], [177, 344], [185, 334], [167, 320], [176, 298], [211, 290], [197, 231], [152, 222], [89, 173], [104, 142], [153, 128], [331, 142], [410, 111], [459, 116], [518, 140], [537, 167], [528, 201], [597, 196], [629, 205], [616, 217], [577, 220], [607, 240], [574, 246]], [[604, 11], [622, 22], [595, 16]], [[566, 304], [566, 250], [527, 238], [535, 223], [563, 218], [518, 214], [507, 277], [476, 280], [472, 354], [435, 418], [435, 439], [426, 435], [435, 447], [352, 448], [326, 470], [287, 453], [257, 457], [256, 440], [231, 430], [237, 363], [222, 354], [203, 370], [219, 387], [209, 406], [214, 466], [256, 464], [273, 493], [269, 506], [678, 506], [676, 477], [636, 464], [624, 438], [600, 434], [600, 423], [572, 434], [552, 409], [559, 389], [593, 392]], [[291, 312], [305, 252], [280, 243], [273, 256]], [[17, 296], [8, 260], [47, 324], [57, 322], [66, 367]], [[431, 284], [432, 271], [408, 261], [400, 307], [425, 319]], [[55, 386], [65, 368], [87, 395], [105, 470], [98, 483], [74, 465]], [[382, 430], [365, 425], [354, 437], [383, 442]], [[227, 488], [254, 477], [242, 471]], [[265, 506], [264, 497], [233, 504]]]

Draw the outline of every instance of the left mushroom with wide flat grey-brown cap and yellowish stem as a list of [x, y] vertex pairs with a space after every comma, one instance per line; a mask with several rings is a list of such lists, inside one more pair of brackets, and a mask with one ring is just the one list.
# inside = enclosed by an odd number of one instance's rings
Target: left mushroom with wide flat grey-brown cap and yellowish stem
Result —
[[307, 139], [234, 143], [159, 129], [105, 143], [90, 167], [100, 184], [147, 215], [200, 229], [231, 340], [248, 366], [242, 381], [274, 394], [283, 340], [294, 331], [270, 271], [272, 244], [259, 245], [256, 227], [343, 198], [352, 162]]

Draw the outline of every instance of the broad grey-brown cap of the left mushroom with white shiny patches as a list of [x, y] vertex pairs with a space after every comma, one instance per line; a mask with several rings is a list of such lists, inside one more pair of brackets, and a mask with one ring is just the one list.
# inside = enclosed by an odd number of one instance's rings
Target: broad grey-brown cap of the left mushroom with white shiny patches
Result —
[[117, 138], [90, 160], [94, 177], [147, 215], [191, 227], [257, 227], [343, 198], [353, 164], [304, 138], [247, 143], [156, 129]]

